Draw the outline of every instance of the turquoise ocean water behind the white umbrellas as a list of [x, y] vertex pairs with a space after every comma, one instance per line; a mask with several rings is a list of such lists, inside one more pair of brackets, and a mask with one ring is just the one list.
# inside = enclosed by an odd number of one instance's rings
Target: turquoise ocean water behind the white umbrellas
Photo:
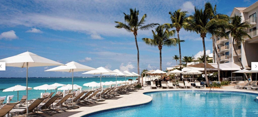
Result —
[[[126, 80], [133, 79], [133, 77], [126, 77]], [[134, 80], [136, 77], [134, 77]], [[124, 81], [125, 77], [117, 77], [117, 81]], [[100, 77], [74, 77], [74, 84], [82, 86], [82, 90], [89, 90], [92, 87], [83, 86], [84, 83], [89, 82], [100, 82]], [[106, 81], [116, 81], [116, 77], [102, 77], [101, 82]], [[60, 84], [72, 84], [72, 78], [71, 77], [41, 77], [41, 78], [28, 78], [28, 87], [36, 87], [43, 84], [54, 84], [54, 83], [60, 83]], [[12, 100], [17, 100], [17, 91], [13, 92], [3, 92], [4, 89], [7, 89], [9, 87], [15, 86], [15, 85], [22, 85], [26, 86], [26, 78], [0, 78], [0, 96], [8, 96], [8, 95], [14, 95]], [[105, 87], [105, 86], [103, 86]], [[58, 87], [59, 88], [59, 87]], [[41, 93], [44, 93], [45, 90], [28, 90], [28, 100], [34, 99], [36, 97], [39, 97]], [[46, 92], [51, 92], [51, 90], [46, 90]], [[55, 90], [52, 90], [52, 92], [55, 92]], [[25, 91], [19, 91], [19, 100], [23, 95], [26, 95]], [[6, 99], [5, 99], [6, 100]]]

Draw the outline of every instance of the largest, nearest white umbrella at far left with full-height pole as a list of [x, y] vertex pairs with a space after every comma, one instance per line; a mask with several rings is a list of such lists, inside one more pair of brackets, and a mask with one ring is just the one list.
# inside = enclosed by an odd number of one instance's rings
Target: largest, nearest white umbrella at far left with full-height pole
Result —
[[64, 65], [59, 62], [55, 62], [50, 59], [46, 59], [44, 57], [38, 56], [31, 52], [24, 52], [15, 56], [7, 57], [5, 59], [1, 59], [0, 62], [5, 62], [5, 66], [12, 66], [12, 67], [26, 67], [26, 108], [28, 115], [28, 67], [37, 67], [37, 66], [56, 66], [56, 65]]

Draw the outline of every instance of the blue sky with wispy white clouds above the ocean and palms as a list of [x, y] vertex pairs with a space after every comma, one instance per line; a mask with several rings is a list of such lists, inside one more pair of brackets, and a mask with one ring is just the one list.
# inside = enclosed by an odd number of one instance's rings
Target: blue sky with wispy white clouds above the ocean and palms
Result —
[[[139, 17], [147, 14], [147, 23], [171, 23], [169, 11], [181, 8], [193, 14], [194, 6], [203, 8], [207, 1], [0, 1], [0, 59], [29, 50], [39, 56], [66, 64], [75, 61], [94, 68], [128, 70], [137, 73], [137, 50], [134, 36], [117, 29], [114, 21], [124, 22], [123, 13], [139, 9]], [[254, 0], [214, 0], [217, 12], [230, 15], [234, 7], [248, 7]], [[152, 29], [154, 30], [154, 28]], [[144, 44], [151, 30], [139, 31], [140, 71], [159, 69], [159, 50]], [[210, 35], [207, 35], [210, 37]], [[182, 56], [199, 56], [203, 51], [198, 34], [180, 31]], [[207, 53], [212, 41], [206, 38]], [[174, 66], [172, 56], [179, 55], [178, 46], [163, 47], [162, 69]], [[29, 77], [70, 76], [64, 72], [44, 72], [54, 66], [31, 67]], [[6, 67], [0, 77], [25, 77], [26, 69]], [[75, 76], [83, 75], [76, 72]]]

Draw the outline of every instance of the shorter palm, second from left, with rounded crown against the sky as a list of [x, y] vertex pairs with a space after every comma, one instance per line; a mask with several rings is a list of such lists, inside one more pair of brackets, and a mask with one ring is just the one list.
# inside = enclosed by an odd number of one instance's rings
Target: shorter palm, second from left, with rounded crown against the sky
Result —
[[[159, 59], [160, 59], [160, 70], [162, 71], [162, 56], [161, 50], [163, 46], [171, 47], [176, 46], [177, 38], [170, 38], [174, 36], [175, 30], [169, 31], [169, 27], [164, 25], [158, 26], [155, 31], [152, 31], [153, 39], [151, 38], [142, 38], [142, 41], [145, 42], [147, 45], [150, 46], [157, 46], [159, 49]], [[157, 34], [156, 34], [156, 33]], [[162, 75], [161, 75], [162, 77]]]

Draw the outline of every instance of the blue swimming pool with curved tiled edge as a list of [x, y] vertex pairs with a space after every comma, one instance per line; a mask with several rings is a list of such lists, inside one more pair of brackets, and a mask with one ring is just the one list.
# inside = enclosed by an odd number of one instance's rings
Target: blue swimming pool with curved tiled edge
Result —
[[[258, 116], [258, 94], [243, 92], [162, 91], [145, 93], [147, 105], [92, 116]], [[88, 116], [88, 115], [85, 115]]]

